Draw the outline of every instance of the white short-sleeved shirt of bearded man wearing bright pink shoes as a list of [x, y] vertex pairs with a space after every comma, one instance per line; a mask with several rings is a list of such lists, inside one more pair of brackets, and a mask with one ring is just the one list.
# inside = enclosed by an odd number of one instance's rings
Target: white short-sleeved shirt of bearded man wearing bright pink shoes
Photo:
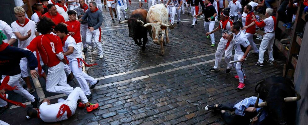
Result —
[[245, 52], [243, 52], [241, 46], [248, 47], [250, 45], [245, 33], [239, 31], [237, 35], [235, 33], [233, 35], [235, 54], [244, 54]]

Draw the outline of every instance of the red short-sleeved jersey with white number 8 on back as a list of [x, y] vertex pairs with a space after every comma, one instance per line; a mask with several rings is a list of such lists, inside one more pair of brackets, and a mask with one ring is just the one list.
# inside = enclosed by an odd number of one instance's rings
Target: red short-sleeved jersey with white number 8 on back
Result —
[[44, 64], [48, 67], [59, 64], [60, 59], [57, 53], [63, 52], [60, 37], [53, 34], [42, 34], [35, 37], [26, 48], [32, 52], [38, 50]]

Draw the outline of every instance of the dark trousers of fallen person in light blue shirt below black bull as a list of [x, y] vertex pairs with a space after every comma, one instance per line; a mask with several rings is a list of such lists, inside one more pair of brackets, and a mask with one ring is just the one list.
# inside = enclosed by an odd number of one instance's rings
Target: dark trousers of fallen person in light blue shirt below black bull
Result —
[[[229, 110], [233, 112], [235, 111], [235, 108], [233, 108], [235, 104], [236, 103], [218, 104], [218, 109]], [[230, 113], [225, 112], [221, 114], [221, 117], [223, 118], [223, 120], [226, 121], [228, 125], [249, 125], [250, 118], [253, 118], [256, 115], [257, 115], [256, 113], [246, 112], [244, 116], [240, 116], [240, 115], [231, 115]]]

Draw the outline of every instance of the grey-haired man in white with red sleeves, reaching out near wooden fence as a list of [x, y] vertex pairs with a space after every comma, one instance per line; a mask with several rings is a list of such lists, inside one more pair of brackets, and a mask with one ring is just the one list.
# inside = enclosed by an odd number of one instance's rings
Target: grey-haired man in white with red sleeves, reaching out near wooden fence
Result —
[[264, 52], [267, 49], [268, 53], [268, 60], [267, 62], [273, 64], [274, 57], [273, 57], [273, 44], [275, 41], [275, 28], [277, 25], [276, 17], [272, 16], [273, 9], [267, 8], [265, 12], [266, 19], [260, 19], [261, 22], [257, 22], [256, 18], [253, 16], [252, 18], [255, 20], [255, 23], [258, 27], [264, 27], [265, 33], [259, 47], [259, 60], [255, 65], [263, 67], [263, 60], [264, 60]]

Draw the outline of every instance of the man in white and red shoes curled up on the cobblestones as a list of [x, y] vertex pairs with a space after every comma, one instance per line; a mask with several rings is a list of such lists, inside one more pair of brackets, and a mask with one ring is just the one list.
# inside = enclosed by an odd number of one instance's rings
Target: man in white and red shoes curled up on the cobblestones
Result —
[[[81, 102], [77, 103], [79, 98]], [[58, 103], [50, 104], [49, 99], [44, 99], [39, 109], [27, 108], [26, 112], [30, 118], [40, 118], [46, 123], [53, 123], [69, 119], [75, 114], [77, 105], [79, 108], [86, 107], [88, 113], [98, 108], [98, 103], [90, 103], [81, 88], [76, 87], [66, 100], [60, 98]]]

